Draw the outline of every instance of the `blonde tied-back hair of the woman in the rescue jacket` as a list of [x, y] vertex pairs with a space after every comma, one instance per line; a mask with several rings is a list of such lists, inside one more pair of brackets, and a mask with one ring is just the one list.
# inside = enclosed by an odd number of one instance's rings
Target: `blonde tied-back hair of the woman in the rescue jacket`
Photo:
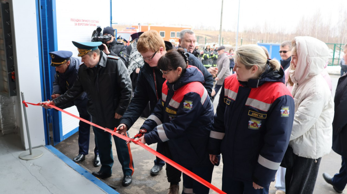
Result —
[[[255, 44], [248, 44], [240, 46], [235, 52], [236, 63], [242, 63], [246, 69], [251, 69], [253, 65], [257, 65], [259, 69], [259, 76], [265, 71], [268, 58], [264, 50]], [[270, 67], [273, 70], [279, 70], [281, 64], [277, 60], [270, 60]]]

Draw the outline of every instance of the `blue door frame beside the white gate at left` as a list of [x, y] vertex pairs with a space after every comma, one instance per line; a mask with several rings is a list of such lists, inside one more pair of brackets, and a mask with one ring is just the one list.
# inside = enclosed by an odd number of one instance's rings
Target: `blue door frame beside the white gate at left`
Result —
[[[57, 39], [57, 16], [56, 16], [56, 0], [36, 0], [37, 12], [37, 24], [38, 25], [38, 37], [41, 45], [39, 46], [40, 64], [41, 65], [41, 80], [42, 84], [42, 100], [51, 99], [53, 91], [53, 80], [55, 69], [50, 66], [51, 58], [49, 52], [58, 50]], [[45, 142], [50, 144], [49, 137], [49, 123], [52, 123], [53, 127], [53, 145], [65, 140], [72, 134], [78, 131], [76, 127], [71, 132], [62, 134], [62, 119], [61, 112], [54, 109], [44, 110], [44, 126], [45, 126]]]

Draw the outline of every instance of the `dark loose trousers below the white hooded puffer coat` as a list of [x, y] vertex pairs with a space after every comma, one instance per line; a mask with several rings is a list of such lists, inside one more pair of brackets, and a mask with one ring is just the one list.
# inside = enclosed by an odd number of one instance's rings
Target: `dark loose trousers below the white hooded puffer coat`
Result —
[[294, 166], [286, 170], [286, 194], [312, 194], [321, 159], [295, 155]]

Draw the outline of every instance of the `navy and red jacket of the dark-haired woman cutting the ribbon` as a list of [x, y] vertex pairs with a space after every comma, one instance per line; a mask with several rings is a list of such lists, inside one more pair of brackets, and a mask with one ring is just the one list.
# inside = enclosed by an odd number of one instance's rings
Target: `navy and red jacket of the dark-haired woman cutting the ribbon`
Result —
[[210, 164], [207, 144], [212, 128], [213, 105], [194, 66], [175, 83], [163, 84], [162, 98], [141, 126], [147, 144], [167, 141], [172, 159], [186, 167]]

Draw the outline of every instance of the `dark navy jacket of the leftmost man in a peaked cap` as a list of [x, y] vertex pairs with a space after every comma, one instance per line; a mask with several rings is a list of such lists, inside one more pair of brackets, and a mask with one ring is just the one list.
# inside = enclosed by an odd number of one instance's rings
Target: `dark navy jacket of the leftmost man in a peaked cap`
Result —
[[[54, 75], [52, 94], [62, 95], [74, 85], [74, 82], [78, 76], [78, 68], [80, 63], [81, 62], [77, 58], [71, 57], [69, 67], [66, 69], [65, 73], [59, 73], [56, 71], [56, 74]], [[76, 104], [82, 102], [83, 100], [87, 100], [87, 95], [85, 92], [75, 99]], [[64, 106], [61, 108], [64, 109]]]

